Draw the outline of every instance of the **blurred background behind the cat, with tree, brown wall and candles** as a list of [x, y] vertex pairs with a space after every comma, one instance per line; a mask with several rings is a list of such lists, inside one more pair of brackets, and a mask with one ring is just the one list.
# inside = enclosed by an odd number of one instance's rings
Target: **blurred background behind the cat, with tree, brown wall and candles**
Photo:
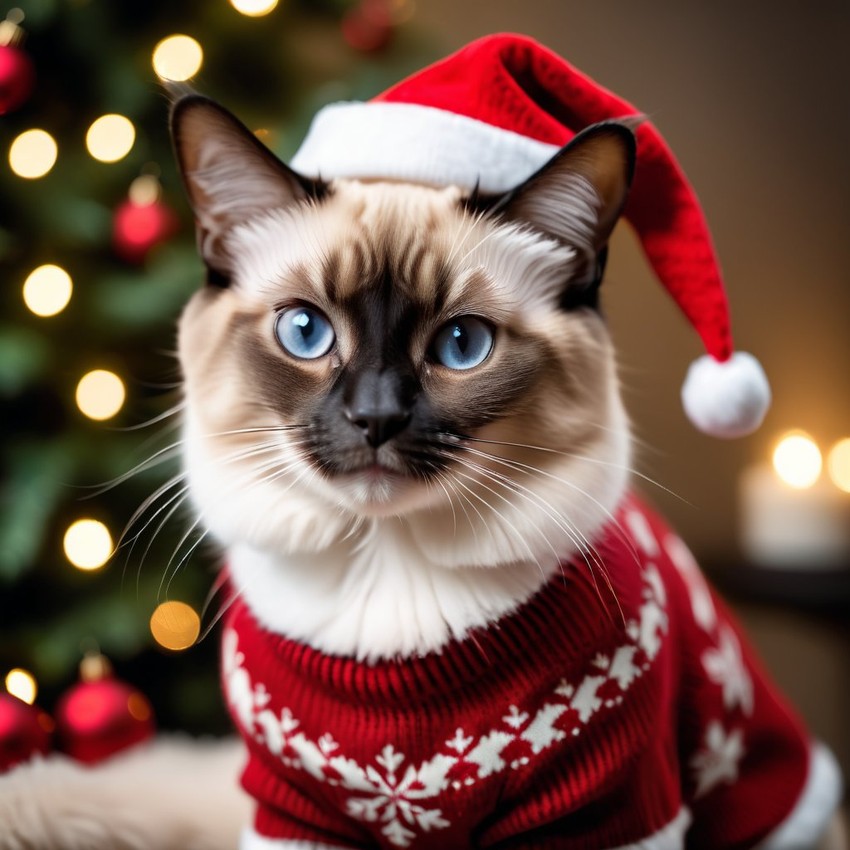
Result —
[[174, 323], [201, 279], [159, 78], [192, 79], [287, 158], [324, 103], [514, 30], [646, 112], [697, 190], [774, 404], [744, 440], [691, 428], [698, 339], [620, 226], [604, 305], [640, 489], [850, 769], [848, 4], [31, 0], [2, 17], [0, 673], [31, 674], [50, 709], [99, 646], [161, 726], [228, 728], [215, 640], [195, 641], [215, 553], [179, 483], [108, 557], [177, 472]]

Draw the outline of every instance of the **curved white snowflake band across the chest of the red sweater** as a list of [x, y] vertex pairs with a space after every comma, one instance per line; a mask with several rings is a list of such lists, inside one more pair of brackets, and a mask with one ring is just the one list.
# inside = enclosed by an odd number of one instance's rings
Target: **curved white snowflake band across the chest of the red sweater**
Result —
[[667, 631], [666, 593], [658, 571], [650, 564], [643, 578], [643, 602], [638, 619], [627, 624], [628, 643], [591, 658], [583, 675], [573, 682], [561, 680], [539, 708], [511, 703], [496, 715], [500, 722], [494, 728], [476, 734], [458, 728], [440, 751], [418, 764], [390, 742], [361, 764], [343, 753], [329, 732], [316, 740], [308, 737], [290, 708], [273, 710], [264, 684], [251, 681], [231, 630], [223, 644], [228, 700], [245, 734], [284, 766], [343, 790], [350, 817], [379, 826], [394, 847], [413, 847], [419, 835], [451, 826], [436, 805], [447, 789], [459, 793], [524, 768], [580, 734], [600, 712], [622, 705], [626, 691], [649, 670]]

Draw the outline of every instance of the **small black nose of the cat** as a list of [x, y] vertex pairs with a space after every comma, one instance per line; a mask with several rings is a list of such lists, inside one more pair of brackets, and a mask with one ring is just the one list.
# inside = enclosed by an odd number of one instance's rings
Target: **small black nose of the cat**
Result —
[[343, 412], [372, 448], [378, 448], [410, 423], [412, 398], [394, 372], [368, 371], [358, 376]]

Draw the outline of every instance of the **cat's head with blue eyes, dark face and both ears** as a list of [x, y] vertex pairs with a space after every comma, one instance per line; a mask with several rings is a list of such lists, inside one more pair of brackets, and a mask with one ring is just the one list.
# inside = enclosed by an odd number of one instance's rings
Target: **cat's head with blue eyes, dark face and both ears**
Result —
[[498, 197], [308, 179], [197, 95], [172, 131], [207, 268], [179, 355], [213, 534], [317, 551], [402, 518], [448, 566], [581, 549], [628, 465], [597, 295], [631, 131], [591, 127]]

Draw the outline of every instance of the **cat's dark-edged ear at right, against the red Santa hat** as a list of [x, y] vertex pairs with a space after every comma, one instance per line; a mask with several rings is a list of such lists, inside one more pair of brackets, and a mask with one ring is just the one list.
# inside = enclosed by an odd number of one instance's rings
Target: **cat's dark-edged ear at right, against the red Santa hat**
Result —
[[524, 183], [495, 200], [491, 213], [527, 224], [586, 253], [604, 254], [626, 203], [635, 165], [627, 123], [594, 124]]

